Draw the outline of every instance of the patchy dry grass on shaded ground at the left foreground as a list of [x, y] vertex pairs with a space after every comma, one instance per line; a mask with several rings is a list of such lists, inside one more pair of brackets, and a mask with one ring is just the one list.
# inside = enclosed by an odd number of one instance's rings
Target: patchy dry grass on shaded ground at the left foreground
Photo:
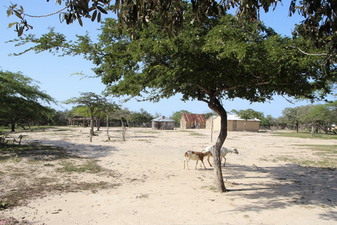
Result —
[[[103, 169], [97, 160], [78, 158], [55, 146], [7, 145], [0, 148], [0, 162], [2, 209], [52, 193], [97, 192], [119, 186], [111, 179], [119, 176], [117, 172]], [[41, 176], [42, 172], [46, 175]], [[95, 174], [97, 181], [82, 181], [88, 173]]]

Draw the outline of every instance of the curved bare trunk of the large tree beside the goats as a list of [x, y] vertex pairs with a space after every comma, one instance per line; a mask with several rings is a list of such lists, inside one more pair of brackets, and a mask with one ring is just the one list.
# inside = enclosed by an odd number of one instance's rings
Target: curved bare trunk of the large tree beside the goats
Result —
[[220, 149], [227, 138], [227, 112], [223, 105], [215, 98], [214, 103], [209, 103], [209, 108], [220, 115], [220, 134], [216, 140], [214, 148], [214, 182], [216, 190], [219, 192], [226, 191], [225, 183], [223, 181], [223, 171], [221, 168]]

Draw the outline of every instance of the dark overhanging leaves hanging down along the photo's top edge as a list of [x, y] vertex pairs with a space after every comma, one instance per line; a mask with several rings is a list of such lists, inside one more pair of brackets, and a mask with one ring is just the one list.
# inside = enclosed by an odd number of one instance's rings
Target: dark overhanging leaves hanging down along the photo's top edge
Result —
[[[49, 1], [49, 0], [47, 0]], [[170, 37], [179, 35], [185, 26], [185, 20], [190, 23], [194, 20], [202, 23], [202, 20], [211, 15], [225, 15], [230, 9], [235, 9], [238, 18], [244, 17], [249, 20], [260, 20], [260, 12], [265, 13], [272, 11], [279, 5], [282, 0], [192, 0], [192, 17], [185, 17], [186, 8], [182, 0], [167, 1], [131, 1], [131, 0], [55, 0], [55, 3], [62, 6], [59, 11], [53, 14], [59, 14], [60, 21], [67, 24], [75, 20], [82, 26], [82, 18], [88, 18], [91, 21], [100, 22], [101, 14], [108, 12], [117, 13], [119, 31], [124, 28], [133, 30], [148, 27], [150, 20], [161, 18], [161, 30], [166, 30]], [[43, 12], [41, 12], [43, 13]], [[300, 25], [294, 27], [294, 37], [300, 35], [308, 37], [319, 49], [325, 49], [329, 60], [336, 63], [337, 49], [337, 3], [335, 0], [291, 0], [289, 4], [289, 16], [298, 13], [303, 16]], [[10, 23], [8, 27], [15, 26], [15, 32], [20, 37], [25, 30], [32, 29], [27, 18], [44, 17], [48, 15], [29, 15], [25, 12], [23, 6], [12, 4], [8, 6], [8, 17], [15, 15], [19, 22]], [[244, 25], [244, 23], [242, 23]]]

